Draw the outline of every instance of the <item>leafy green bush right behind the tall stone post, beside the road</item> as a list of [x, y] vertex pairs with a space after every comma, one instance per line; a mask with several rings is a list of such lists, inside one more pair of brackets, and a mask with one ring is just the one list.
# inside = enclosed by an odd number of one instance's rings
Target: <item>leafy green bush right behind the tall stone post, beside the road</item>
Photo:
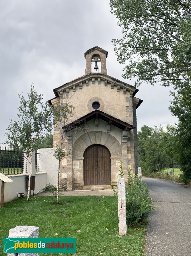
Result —
[[145, 184], [134, 177], [128, 170], [128, 182], [126, 188], [126, 219], [128, 227], [136, 227], [140, 222], [147, 219], [149, 213], [156, 207], [152, 206], [152, 198], [149, 197], [149, 190]]

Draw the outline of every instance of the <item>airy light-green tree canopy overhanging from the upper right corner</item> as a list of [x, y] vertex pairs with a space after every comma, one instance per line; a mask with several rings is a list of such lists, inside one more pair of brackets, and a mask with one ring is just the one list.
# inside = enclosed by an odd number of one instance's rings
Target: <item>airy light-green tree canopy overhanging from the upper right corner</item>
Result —
[[191, 77], [190, 0], [111, 0], [123, 38], [113, 39], [124, 78], [173, 84]]

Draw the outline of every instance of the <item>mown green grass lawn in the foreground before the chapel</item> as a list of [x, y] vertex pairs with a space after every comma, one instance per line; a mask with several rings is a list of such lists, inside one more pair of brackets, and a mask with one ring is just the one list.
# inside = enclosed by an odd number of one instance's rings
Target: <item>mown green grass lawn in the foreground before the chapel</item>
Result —
[[10, 228], [22, 225], [40, 227], [39, 237], [76, 237], [76, 253], [39, 256], [145, 255], [145, 228], [128, 229], [126, 236], [118, 236], [117, 200], [114, 196], [105, 198], [107, 204], [101, 196], [60, 196], [59, 205], [52, 196], [31, 196], [30, 202], [25, 197], [5, 203], [0, 209], [0, 255], [2, 238], [8, 237]]

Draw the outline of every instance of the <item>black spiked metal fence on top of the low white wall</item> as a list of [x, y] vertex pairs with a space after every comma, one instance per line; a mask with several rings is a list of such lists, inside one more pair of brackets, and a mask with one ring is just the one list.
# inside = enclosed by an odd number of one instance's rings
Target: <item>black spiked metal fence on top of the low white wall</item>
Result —
[[[36, 172], [40, 172], [40, 151], [35, 151]], [[23, 150], [0, 146], [0, 173], [4, 175], [27, 173], [27, 157]]]

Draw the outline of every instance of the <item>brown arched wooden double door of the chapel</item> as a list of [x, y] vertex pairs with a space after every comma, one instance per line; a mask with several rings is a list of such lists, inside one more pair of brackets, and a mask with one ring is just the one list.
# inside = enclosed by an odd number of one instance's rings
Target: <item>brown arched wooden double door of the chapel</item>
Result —
[[84, 152], [85, 185], [110, 185], [111, 154], [99, 144], [91, 145]]

